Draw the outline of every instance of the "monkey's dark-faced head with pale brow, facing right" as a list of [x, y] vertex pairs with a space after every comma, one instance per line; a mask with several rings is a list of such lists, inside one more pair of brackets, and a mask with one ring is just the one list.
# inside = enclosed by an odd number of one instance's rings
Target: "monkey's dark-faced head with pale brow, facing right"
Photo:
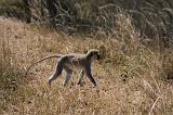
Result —
[[98, 50], [96, 49], [91, 49], [88, 51], [88, 55], [91, 58], [91, 59], [97, 59], [99, 61], [101, 59], [101, 53]]

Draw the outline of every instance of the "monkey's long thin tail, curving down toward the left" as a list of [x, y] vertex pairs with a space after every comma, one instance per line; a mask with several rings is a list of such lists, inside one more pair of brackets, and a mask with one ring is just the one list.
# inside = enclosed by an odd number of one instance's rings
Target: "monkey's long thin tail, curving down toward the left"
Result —
[[57, 59], [58, 59], [58, 58], [62, 58], [62, 55], [61, 55], [61, 54], [54, 54], [54, 55], [45, 56], [45, 58], [43, 58], [43, 59], [41, 59], [41, 60], [32, 63], [32, 64], [26, 69], [26, 75], [28, 74], [29, 69], [30, 69], [34, 65], [36, 65], [36, 64], [38, 64], [38, 63], [40, 63], [40, 62], [42, 62], [42, 61], [45, 61], [45, 60], [49, 60], [49, 59], [53, 59], [53, 58], [57, 58]]

